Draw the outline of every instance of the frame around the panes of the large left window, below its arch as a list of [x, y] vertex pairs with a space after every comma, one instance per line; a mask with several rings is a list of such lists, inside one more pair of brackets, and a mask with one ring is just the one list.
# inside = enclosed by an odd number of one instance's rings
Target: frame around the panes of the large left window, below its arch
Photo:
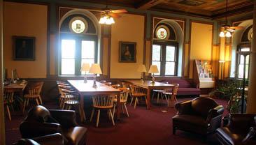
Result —
[[[75, 74], [62, 74], [62, 40], [75, 40]], [[84, 35], [81, 33], [60, 33], [59, 36], [59, 76], [82, 76], [80, 72], [82, 62], [82, 41], [94, 41], [94, 63], [98, 63], [98, 36]]]

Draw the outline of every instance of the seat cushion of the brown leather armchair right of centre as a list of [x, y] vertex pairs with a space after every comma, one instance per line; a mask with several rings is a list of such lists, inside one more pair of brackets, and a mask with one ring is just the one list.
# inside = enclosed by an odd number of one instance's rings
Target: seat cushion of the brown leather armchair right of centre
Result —
[[194, 115], [187, 115], [187, 114], [176, 115], [176, 116], [173, 116], [173, 123], [194, 125], [194, 126], [207, 128], [207, 123], [205, 119], [202, 118], [201, 116], [194, 116]]

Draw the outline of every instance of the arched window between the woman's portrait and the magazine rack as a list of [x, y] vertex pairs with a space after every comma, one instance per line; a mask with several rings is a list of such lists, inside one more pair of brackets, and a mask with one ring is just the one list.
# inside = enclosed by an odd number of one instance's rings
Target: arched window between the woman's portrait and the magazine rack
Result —
[[177, 75], [178, 42], [176, 32], [169, 24], [159, 23], [154, 30], [152, 45], [152, 64], [157, 65], [159, 73], [155, 75]]

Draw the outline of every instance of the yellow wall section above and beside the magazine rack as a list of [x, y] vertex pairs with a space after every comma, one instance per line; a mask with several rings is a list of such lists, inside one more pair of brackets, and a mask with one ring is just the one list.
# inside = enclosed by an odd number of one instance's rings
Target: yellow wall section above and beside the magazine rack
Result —
[[213, 25], [192, 22], [190, 39], [190, 78], [192, 78], [195, 59], [211, 60]]

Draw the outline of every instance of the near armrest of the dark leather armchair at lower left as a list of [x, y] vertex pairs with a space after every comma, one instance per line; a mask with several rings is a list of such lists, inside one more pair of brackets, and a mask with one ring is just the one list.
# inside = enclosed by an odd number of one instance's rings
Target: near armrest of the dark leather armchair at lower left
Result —
[[53, 133], [62, 132], [61, 125], [58, 123], [40, 123], [35, 121], [24, 121], [20, 124], [22, 138], [40, 137]]

